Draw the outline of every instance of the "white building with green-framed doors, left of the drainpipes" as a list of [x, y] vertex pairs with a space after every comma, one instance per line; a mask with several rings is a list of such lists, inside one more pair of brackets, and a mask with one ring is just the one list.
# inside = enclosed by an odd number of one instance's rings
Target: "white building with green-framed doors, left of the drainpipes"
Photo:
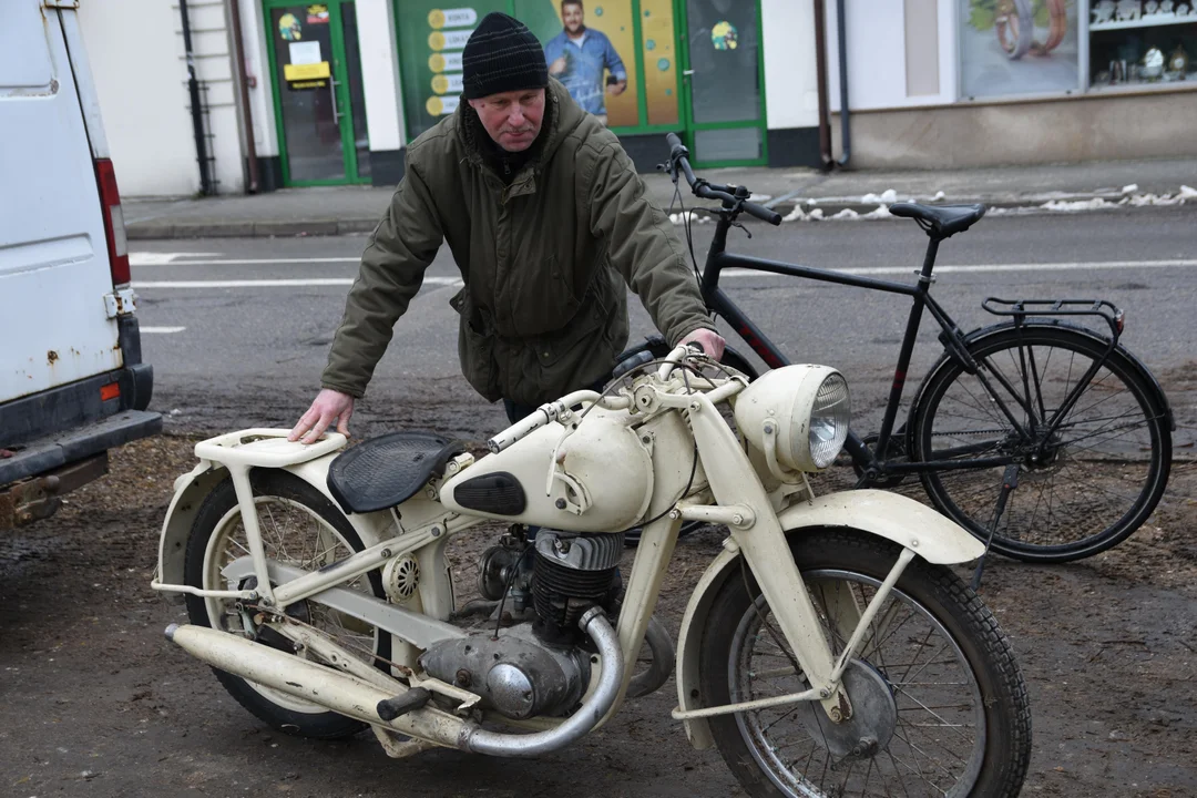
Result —
[[[600, 63], [588, 86], [584, 65], [573, 60], [594, 42], [571, 44], [557, 75], [572, 80], [582, 102], [600, 103], [595, 110], [606, 111], [639, 167], [663, 160], [667, 132], [682, 134], [704, 165], [816, 164], [814, 53], [792, 33], [809, 38], [810, 4], [565, 5], [581, 10], [587, 36], [606, 39], [618, 62]], [[80, 11], [121, 189], [163, 196], [395, 184], [407, 142], [456, 109], [461, 50], [478, 20], [510, 13], [548, 45], [564, 36], [564, 7], [560, 0], [81, 0]], [[198, 124], [188, 62], [200, 86]]]

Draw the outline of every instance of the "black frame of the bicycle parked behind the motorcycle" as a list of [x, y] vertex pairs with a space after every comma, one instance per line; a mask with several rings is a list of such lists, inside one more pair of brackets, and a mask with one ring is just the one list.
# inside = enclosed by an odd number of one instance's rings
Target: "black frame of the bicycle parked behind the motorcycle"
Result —
[[[715, 238], [711, 242], [711, 246], [707, 250], [706, 264], [703, 269], [701, 279], [699, 281], [699, 287], [703, 293], [703, 298], [706, 305], [712, 311], [723, 316], [735, 329], [736, 334], [755, 352], [770, 367], [779, 367], [790, 364], [790, 360], [785, 354], [773, 343], [767, 335], [748, 316], [728, 297], [728, 294], [719, 287], [719, 275], [724, 269], [729, 268], [742, 268], [753, 272], [765, 272], [771, 274], [782, 274], [788, 276], [803, 278], [807, 280], [816, 280], [820, 282], [833, 282], [837, 285], [851, 286], [856, 288], [865, 288], [869, 291], [880, 291], [883, 293], [894, 293], [910, 297], [912, 300], [912, 306], [910, 315], [906, 319], [906, 331], [903, 335], [901, 347], [898, 353], [898, 364], [894, 368], [893, 383], [889, 388], [889, 397], [886, 402], [885, 414], [881, 421], [881, 431], [877, 434], [877, 441], [874, 450], [869, 450], [868, 444], [855, 432], [849, 431], [847, 440], [844, 444], [844, 451], [849, 453], [852, 462], [865, 474], [865, 482], [880, 474], [907, 474], [907, 473], [919, 473], [919, 471], [941, 471], [941, 470], [956, 470], [956, 469], [980, 469], [991, 467], [1003, 467], [1017, 459], [1015, 455], [1003, 455], [992, 457], [961, 457], [955, 458], [955, 455], [968, 455], [967, 449], [960, 449], [950, 452], [952, 459], [936, 458], [935, 461], [922, 461], [922, 462], [891, 462], [886, 458], [888, 453], [892, 439], [894, 422], [898, 418], [898, 410], [901, 403], [903, 392], [906, 385], [907, 370], [910, 367], [911, 357], [915, 351], [915, 342], [918, 335], [918, 328], [923, 319], [923, 311], [930, 312], [931, 317], [935, 318], [936, 323], [942, 328], [943, 335], [941, 335], [941, 341], [947, 349], [949, 357], [959, 360], [966, 371], [974, 373], [977, 379], [984, 385], [985, 390], [989, 392], [990, 397], [994, 398], [997, 409], [1005, 416], [1010, 425], [1026, 439], [1031, 439], [1031, 431], [1026, 428], [1026, 425], [1019, 420], [1019, 416], [1011, 412], [1009, 403], [1003, 398], [1002, 394], [994, 389], [990, 384], [990, 378], [986, 377], [979, 368], [979, 364], [968, 353], [965, 345], [965, 336], [960, 328], [956, 325], [955, 321], [948, 315], [948, 312], [931, 297], [930, 288], [934, 284], [931, 273], [935, 268], [935, 258], [938, 254], [940, 239], [931, 238], [926, 254], [923, 257], [923, 267], [920, 270], [916, 272], [918, 275], [918, 281], [915, 285], [905, 282], [894, 282], [891, 280], [877, 280], [874, 278], [856, 276], [851, 274], [844, 274], [841, 272], [834, 272], [831, 269], [819, 269], [808, 266], [798, 266], [794, 263], [785, 263], [782, 261], [770, 261], [766, 258], [752, 257], [747, 255], [735, 255], [727, 251], [727, 238], [728, 231], [734, 226], [734, 208], [729, 208], [728, 203], [724, 203], [724, 208], [719, 214], [719, 221], [715, 229]], [[989, 301], [989, 300], [988, 300]], [[996, 300], [1005, 301], [1005, 300]], [[1077, 300], [1064, 300], [1063, 303], [1057, 301], [1053, 304], [1053, 311], [1056, 313], [1074, 315], [1092, 311], [1061, 311], [1059, 306], [1062, 304], [1074, 304]], [[1015, 323], [1021, 324], [1026, 313], [1022, 309], [1021, 303], [1014, 303], [1016, 310], [1014, 312], [990, 312], [999, 315], [1013, 315], [1015, 317]], [[1104, 303], [1108, 304], [1108, 303]], [[1100, 315], [1100, 313], [1099, 313]], [[1104, 316], [1105, 317], [1105, 316]], [[1114, 336], [1111, 341], [1110, 349], [1106, 355], [1113, 352], [1117, 346], [1118, 329], [1114, 328], [1116, 322], [1120, 323], [1120, 315], [1116, 316], [1111, 322]], [[1101, 359], [1093, 364], [1088, 373], [1084, 374], [1077, 385], [1073, 389], [1069, 397], [1064, 401], [1062, 407], [1055, 413], [1052, 419], [1043, 419], [1046, 422], [1049, 435], [1056, 431], [1059, 424], [1063, 421], [1068, 409], [1070, 409], [1081, 395], [1088, 382], [1093, 378], [1096, 371], [1100, 368], [1105, 359]], [[1026, 373], [1026, 371], [1023, 371]], [[992, 377], [1001, 383], [1002, 388], [1007, 391], [1007, 395], [1014, 397], [1021, 410], [1029, 418], [1043, 418], [1045, 415], [1044, 408], [1033, 407], [1033, 395], [1029, 390], [1025, 394], [1020, 394], [1009, 382], [998, 372], [994, 371]], [[1023, 386], [1029, 389], [1029, 386]], [[1043, 440], [1046, 441], [1049, 435], [1044, 435]], [[1044, 444], [1041, 444], [1044, 445]]]

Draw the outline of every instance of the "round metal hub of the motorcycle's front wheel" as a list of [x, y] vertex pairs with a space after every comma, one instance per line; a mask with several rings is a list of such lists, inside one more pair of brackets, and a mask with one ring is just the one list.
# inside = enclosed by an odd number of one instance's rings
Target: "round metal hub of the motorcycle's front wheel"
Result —
[[847, 664], [840, 684], [852, 702], [847, 720], [832, 721], [822, 705], [814, 701], [802, 705], [798, 720], [836, 760], [869, 759], [889, 744], [898, 725], [893, 690], [880, 671], [859, 659]]

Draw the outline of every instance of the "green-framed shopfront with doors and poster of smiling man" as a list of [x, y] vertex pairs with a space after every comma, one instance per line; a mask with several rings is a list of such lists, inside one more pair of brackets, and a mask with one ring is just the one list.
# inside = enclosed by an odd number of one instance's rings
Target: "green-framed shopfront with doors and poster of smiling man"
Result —
[[[531, 29], [549, 72], [606, 120], [642, 170], [663, 158], [667, 132], [680, 133], [704, 166], [818, 157], [813, 103], [785, 79], [813, 74], [813, 56], [798, 65], [790, 50], [778, 48], [772, 61], [766, 51], [762, 19], [803, 19], [789, 0], [260, 2], [281, 185], [396, 182], [403, 145], [457, 110], [462, 49], [492, 11]], [[772, 117], [766, 95], [778, 95], [766, 92], [767, 75], [795, 92]]]

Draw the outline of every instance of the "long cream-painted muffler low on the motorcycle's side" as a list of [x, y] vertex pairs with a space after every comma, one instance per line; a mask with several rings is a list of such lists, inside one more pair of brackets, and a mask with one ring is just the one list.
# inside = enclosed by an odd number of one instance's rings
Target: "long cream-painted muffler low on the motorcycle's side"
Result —
[[[458, 748], [458, 739], [469, 725], [461, 718], [432, 708], [383, 720], [376, 707], [381, 701], [395, 698], [394, 693], [227, 632], [171, 623], [166, 627], [166, 639], [196, 659], [233, 676], [409, 737]], [[402, 692], [397, 684], [396, 689]]]

